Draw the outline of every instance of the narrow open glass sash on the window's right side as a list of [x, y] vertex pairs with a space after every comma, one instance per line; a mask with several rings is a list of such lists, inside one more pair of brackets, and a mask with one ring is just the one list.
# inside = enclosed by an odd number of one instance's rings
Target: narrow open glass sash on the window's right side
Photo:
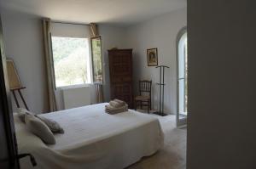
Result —
[[93, 82], [102, 82], [102, 40], [101, 37], [90, 38]]

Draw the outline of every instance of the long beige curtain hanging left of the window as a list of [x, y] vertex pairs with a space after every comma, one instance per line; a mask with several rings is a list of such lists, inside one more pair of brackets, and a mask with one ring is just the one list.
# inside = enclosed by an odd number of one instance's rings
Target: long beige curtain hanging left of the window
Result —
[[48, 82], [49, 111], [55, 111], [57, 110], [57, 104], [55, 97], [55, 75], [51, 50], [50, 22], [49, 19], [43, 19], [44, 57]]

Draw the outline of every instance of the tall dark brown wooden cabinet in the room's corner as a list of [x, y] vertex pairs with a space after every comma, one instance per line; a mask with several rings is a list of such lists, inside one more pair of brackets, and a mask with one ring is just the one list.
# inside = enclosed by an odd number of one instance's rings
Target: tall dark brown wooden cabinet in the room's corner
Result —
[[111, 99], [124, 100], [133, 108], [132, 49], [108, 50]]

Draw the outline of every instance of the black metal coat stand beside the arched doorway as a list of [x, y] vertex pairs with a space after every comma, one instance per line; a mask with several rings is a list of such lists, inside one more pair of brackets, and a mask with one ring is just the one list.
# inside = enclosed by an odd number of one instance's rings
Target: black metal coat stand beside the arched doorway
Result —
[[160, 82], [156, 83], [159, 85], [159, 112], [157, 112], [158, 115], [164, 116], [164, 99], [165, 99], [165, 68], [170, 68], [166, 65], [159, 65], [155, 68], [160, 68]]

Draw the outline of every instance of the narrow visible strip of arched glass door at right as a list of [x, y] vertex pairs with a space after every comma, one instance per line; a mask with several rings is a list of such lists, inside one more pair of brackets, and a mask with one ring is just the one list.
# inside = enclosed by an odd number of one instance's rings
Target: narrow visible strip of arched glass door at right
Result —
[[188, 37], [183, 28], [177, 35], [177, 115], [188, 113]]

